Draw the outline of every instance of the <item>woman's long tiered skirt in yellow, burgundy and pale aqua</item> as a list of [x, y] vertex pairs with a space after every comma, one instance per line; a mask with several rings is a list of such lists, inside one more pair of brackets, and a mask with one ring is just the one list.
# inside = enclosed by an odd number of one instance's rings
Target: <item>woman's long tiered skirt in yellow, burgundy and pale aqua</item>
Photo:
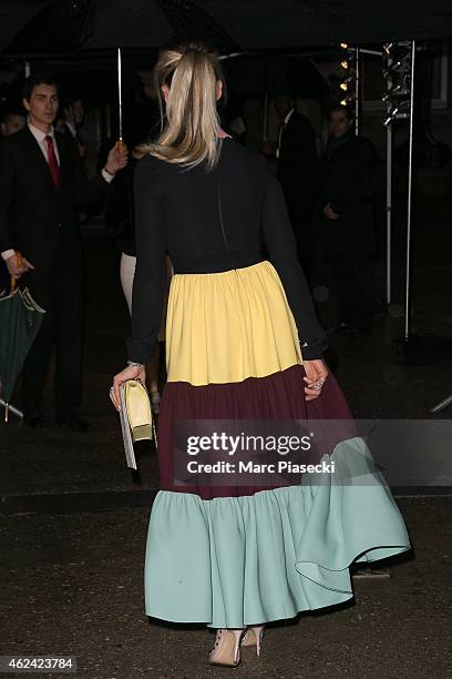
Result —
[[[347, 470], [343, 483], [328, 474], [321, 482], [305, 474], [299, 483], [261, 488], [174, 483], [177, 420], [352, 423], [331, 374], [321, 395], [306, 402], [297, 327], [269, 262], [174, 275], [166, 363], [157, 433], [161, 490], [145, 558], [147, 616], [214, 628], [291, 618], [351, 598], [353, 561], [410, 548], [391, 493], [352, 427], [325, 454]], [[350, 482], [353, 467], [361, 483]]]

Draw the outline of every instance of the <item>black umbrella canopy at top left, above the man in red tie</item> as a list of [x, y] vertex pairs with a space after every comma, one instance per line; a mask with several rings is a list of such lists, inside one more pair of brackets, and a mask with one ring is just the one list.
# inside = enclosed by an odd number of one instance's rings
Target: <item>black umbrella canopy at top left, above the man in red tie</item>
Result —
[[4, 54], [76, 55], [117, 47], [150, 49], [174, 34], [208, 38], [223, 53], [238, 49], [209, 12], [192, 0], [56, 0], [19, 31]]

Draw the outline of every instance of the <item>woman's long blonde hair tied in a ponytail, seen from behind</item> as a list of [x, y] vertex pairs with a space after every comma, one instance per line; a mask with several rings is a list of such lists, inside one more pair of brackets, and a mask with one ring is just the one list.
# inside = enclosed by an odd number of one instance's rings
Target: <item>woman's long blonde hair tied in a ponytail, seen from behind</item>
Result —
[[[155, 155], [168, 163], [215, 168], [222, 140], [217, 111], [217, 82], [224, 85], [218, 55], [204, 42], [184, 40], [160, 51], [154, 69], [162, 131], [137, 148], [137, 155]], [[166, 101], [162, 88], [168, 88]]]

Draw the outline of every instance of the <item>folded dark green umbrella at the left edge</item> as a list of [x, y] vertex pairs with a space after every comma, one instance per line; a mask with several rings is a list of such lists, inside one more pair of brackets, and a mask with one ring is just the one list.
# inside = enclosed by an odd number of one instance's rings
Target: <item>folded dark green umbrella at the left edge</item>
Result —
[[28, 288], [0, 296], [0, 394], [6, 402], [7, 422], [8, 404], [44, 313]]

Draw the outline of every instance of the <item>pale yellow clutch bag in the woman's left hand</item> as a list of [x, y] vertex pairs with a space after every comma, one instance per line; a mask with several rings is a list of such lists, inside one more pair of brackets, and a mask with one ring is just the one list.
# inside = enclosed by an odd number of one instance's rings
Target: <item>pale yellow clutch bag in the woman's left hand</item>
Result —
[[152, 440], [155, 436], [150, 397], [140, 379], [127, 379], [121, 385], [121, 429], [124, 439], [127, 467], [136, 469], [133, 444], [137, 440]]

